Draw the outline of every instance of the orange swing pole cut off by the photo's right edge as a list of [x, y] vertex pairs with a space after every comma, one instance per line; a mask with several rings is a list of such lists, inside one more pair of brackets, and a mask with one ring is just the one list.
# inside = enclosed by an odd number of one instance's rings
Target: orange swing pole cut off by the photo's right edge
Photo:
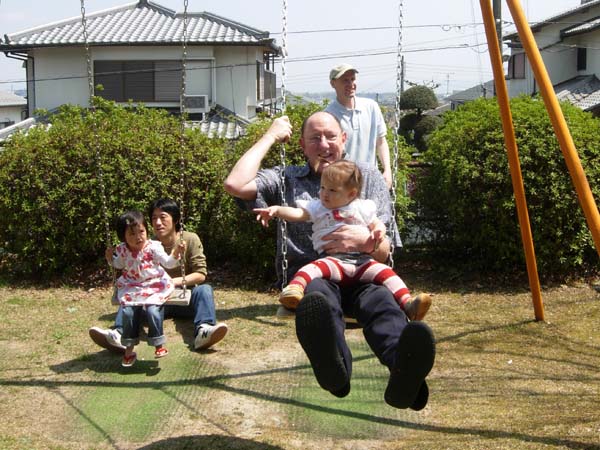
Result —
[[594, 201], [594, 196], [590, 189], [590, 185], [588, 184], [587, 177], [581, 166], [579, 155], [575, 149], [573, 137], [571, 136], [565, 117], [560, 109], [540, 51], [533, 38], [533, 33], [527, 23], [525, 14], [523, 13], [523, 8], [518, 0], [506, 0], [506, 3], [508, 4], [513, 20], [517, 26], [519, 38], [525, 48], [525, 53], [531, 64], [535, 79], [540, 87], [546, 110], [550, 115], [550, 121], [554, 127], [554, 132], [556, 133], [560, 149], [567, 164], [567, 169], [569, 170], [571, 179], [575, 185], [579, 203], [581, 204], [588, 227], [592, 233], [592, 238], [596, 245], [596, 252], [600, 255], [600, 214], [598, 213], [598, 207]]

